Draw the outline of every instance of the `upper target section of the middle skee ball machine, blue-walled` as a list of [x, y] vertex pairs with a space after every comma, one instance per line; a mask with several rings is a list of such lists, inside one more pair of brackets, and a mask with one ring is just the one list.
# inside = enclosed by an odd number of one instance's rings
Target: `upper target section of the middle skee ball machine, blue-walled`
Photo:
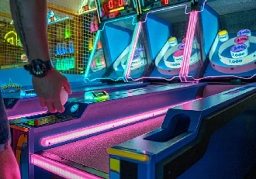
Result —
[[[183, 2], [183, 3], [182, 3]], [[132, 81], [177, 81], [182, 67], [189, 15], [185, 15], [189, 1], [140, 1], [140, 22], [131, 55], [137, 56], [135, 46], [144, 46], [149, 70], [147, 75], [134, 74], [133, 62], [128, 64], [126, 78]], [[170, 15], [171, 14], [171, 15]], [[157, 28], [156, 28], [157, 27]], [[190, 66], [201, 63], [198, 35], [193, 43]]]

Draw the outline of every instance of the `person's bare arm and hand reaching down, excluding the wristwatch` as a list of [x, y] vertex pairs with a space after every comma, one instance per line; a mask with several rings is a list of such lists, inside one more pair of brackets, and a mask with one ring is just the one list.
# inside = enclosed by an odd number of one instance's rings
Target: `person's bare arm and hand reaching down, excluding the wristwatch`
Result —
[[[50, 60], [47, 41], [47, 1], [10, 0], [12, 19], [26, 51], [29, 63], [33, 60]], [[61, 105], [61, 88], [71, 94], [71, 87], [61, 73], [52, 69], [45, 77], [33, 76], [33, 87], [40, 104], [49, 112], [64, 112]]]

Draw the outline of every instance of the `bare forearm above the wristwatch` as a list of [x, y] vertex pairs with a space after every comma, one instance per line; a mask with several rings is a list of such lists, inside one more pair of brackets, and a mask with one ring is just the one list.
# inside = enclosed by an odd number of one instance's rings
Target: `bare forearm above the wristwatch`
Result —
[[12, 19], [29, 62], [35, 59], [49, 60], [47, 1], [10, 0], [10, 4]]

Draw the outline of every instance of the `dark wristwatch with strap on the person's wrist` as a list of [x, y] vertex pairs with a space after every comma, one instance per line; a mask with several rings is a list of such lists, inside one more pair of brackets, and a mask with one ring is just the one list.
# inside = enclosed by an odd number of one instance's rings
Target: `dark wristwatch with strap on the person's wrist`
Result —
[[24, 65], [26, 71], [35, 77], [45, 77], [54, 68], [51, 60], [43, 61], [40, 59], [32, 60], [31, 64]]

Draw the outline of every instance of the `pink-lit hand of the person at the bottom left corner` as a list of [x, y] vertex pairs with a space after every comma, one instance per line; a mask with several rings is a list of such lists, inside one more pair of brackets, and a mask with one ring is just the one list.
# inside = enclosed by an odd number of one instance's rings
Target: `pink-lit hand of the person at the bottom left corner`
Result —
[[5, 179], [20, 179], [19, 166], [12, 148], [0, 152], [0, 176]]

